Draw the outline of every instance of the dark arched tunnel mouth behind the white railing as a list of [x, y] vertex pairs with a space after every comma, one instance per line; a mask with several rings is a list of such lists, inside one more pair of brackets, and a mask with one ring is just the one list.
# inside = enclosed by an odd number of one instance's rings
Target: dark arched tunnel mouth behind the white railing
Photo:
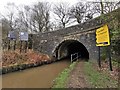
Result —
[[77, 40], [66, 40], [59, 44], [55, 50], [57, 59], [71, 58], [71, 54], [78, 53], [80, 59], [89, 59], [89, 53], [86, 47]]

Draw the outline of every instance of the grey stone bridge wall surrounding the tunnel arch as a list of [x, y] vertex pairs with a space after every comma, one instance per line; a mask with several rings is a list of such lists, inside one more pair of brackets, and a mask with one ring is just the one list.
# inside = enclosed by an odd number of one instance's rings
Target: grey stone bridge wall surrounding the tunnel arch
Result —
[[60, 43], [73, 39], [86, 47], [89, 59], [96, 60], [98, 59], [98, 47], [96, 47], [95, 30], [103, 24], [101, 19], [96, 18], [65, 29], [34, 35], [33, 49], [49, 56], [55, 56], [54, 51]]

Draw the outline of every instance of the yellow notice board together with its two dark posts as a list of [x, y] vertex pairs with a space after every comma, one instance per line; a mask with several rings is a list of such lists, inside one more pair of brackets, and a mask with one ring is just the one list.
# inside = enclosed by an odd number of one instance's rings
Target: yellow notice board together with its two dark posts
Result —
[[[110, 37], [109, 37], [109, 30], [107, 24], [98, 28], [96, 30], [96, 46], [98, 46], [98, 65], [101, 67], [100, 61], [100, 47], [101, 46], [110, 46]], [[110, 70], [112, 71], [112, 63], [111, 63], [111, 55], [110, 55], [110, 48], [107, 48], [108, 58], [109, 58], [109, 66]]]

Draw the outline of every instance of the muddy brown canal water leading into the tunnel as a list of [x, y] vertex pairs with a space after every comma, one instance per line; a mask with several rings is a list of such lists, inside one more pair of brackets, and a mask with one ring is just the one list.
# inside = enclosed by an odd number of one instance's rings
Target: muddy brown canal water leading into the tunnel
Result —
[[2, 75], [2, 88], [50, 88], [54, 79], [70, 65], [70, 60]]

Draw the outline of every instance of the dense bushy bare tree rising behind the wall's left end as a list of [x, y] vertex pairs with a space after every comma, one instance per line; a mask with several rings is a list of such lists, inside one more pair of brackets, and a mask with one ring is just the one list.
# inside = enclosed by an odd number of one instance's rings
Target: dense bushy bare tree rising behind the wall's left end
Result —
[[32, 8], [32, 23], [39, 32], [49, 29], [49, 5], [48, 3], [38, 2]]

